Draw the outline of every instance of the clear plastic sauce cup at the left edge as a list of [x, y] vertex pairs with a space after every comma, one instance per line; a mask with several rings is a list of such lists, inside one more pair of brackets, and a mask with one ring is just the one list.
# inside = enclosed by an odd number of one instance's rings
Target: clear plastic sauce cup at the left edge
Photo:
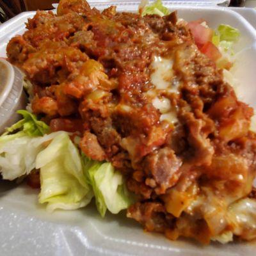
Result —
[[5, 127], [19, 120], [18, 109], [26, 108], [23, 74], [8, 61], [0, 58], [0, 134]]

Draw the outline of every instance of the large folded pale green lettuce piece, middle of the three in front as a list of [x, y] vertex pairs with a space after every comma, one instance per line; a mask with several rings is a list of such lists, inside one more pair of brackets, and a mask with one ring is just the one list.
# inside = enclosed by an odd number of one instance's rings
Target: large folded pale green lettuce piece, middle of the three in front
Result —
[[47, 203], [49, 211], [78, 209], [92, 200], [81, 156], [67, 132], [60, 132], [38, 154], [36, 168], [40, 168], [39, 202]]

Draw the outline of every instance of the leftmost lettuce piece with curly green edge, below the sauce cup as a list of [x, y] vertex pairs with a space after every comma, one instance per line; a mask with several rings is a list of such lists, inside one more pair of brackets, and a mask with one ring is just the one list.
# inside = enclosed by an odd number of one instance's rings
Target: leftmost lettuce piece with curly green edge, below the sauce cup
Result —
[[14, 180], [28, 175], [35, 168], [37, 154], [54, 134], [44, 135], [49, 127], [28, 111], [18, 111], [23, 119], [0, 136], [0, 173], [3, 179]]

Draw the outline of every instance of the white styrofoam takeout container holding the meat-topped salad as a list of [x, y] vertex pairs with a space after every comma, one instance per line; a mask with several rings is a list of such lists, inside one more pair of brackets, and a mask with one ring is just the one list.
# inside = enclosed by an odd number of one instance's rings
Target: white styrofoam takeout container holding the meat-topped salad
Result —
[[[102, 5], [97, 4], [97, 8]], [[119, 10], [136, 8], [132, 4], [118, 5]], [[180, 6], [175, 9], [186, 20], [202, 18], [211, 28], [224, 23], [241, 31], [233, 71], [241, 83], [241, 97], [256, 108], [256, 31], [252, 25], [225, 8]], [[24, 22], [33, 14], [22, 13], [0, 26], [0, 56], [4, 56], [8, 40], [24, 32]], [[125, 212], [100, 218], [93, 202], [77, 211], [50, 214], [44, 205], [38, 205], [37, 194], [38, 191], [28, 186], [0, 181], [0, 255], [255, 255], [255, 243], [201, 246], [189, 240], [169, 241], [162, 235], [143, 232], [138, 223], [125, 217]]]

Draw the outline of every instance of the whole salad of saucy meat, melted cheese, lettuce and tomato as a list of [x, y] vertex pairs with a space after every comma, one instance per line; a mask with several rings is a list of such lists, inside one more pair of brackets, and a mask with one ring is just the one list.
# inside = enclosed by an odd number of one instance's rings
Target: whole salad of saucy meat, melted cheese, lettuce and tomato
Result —
[[159, 0], [138, 13], [61, 0], [26, 28], [7, 46], [29, 104], [0, 137], [3, 179], [40, 188], [49, 211], [95, 200], [101, 216], [126, 209], [169, 239], [255, 239], [253, 109], [230, 84], [236, 28], [178, 19]]

